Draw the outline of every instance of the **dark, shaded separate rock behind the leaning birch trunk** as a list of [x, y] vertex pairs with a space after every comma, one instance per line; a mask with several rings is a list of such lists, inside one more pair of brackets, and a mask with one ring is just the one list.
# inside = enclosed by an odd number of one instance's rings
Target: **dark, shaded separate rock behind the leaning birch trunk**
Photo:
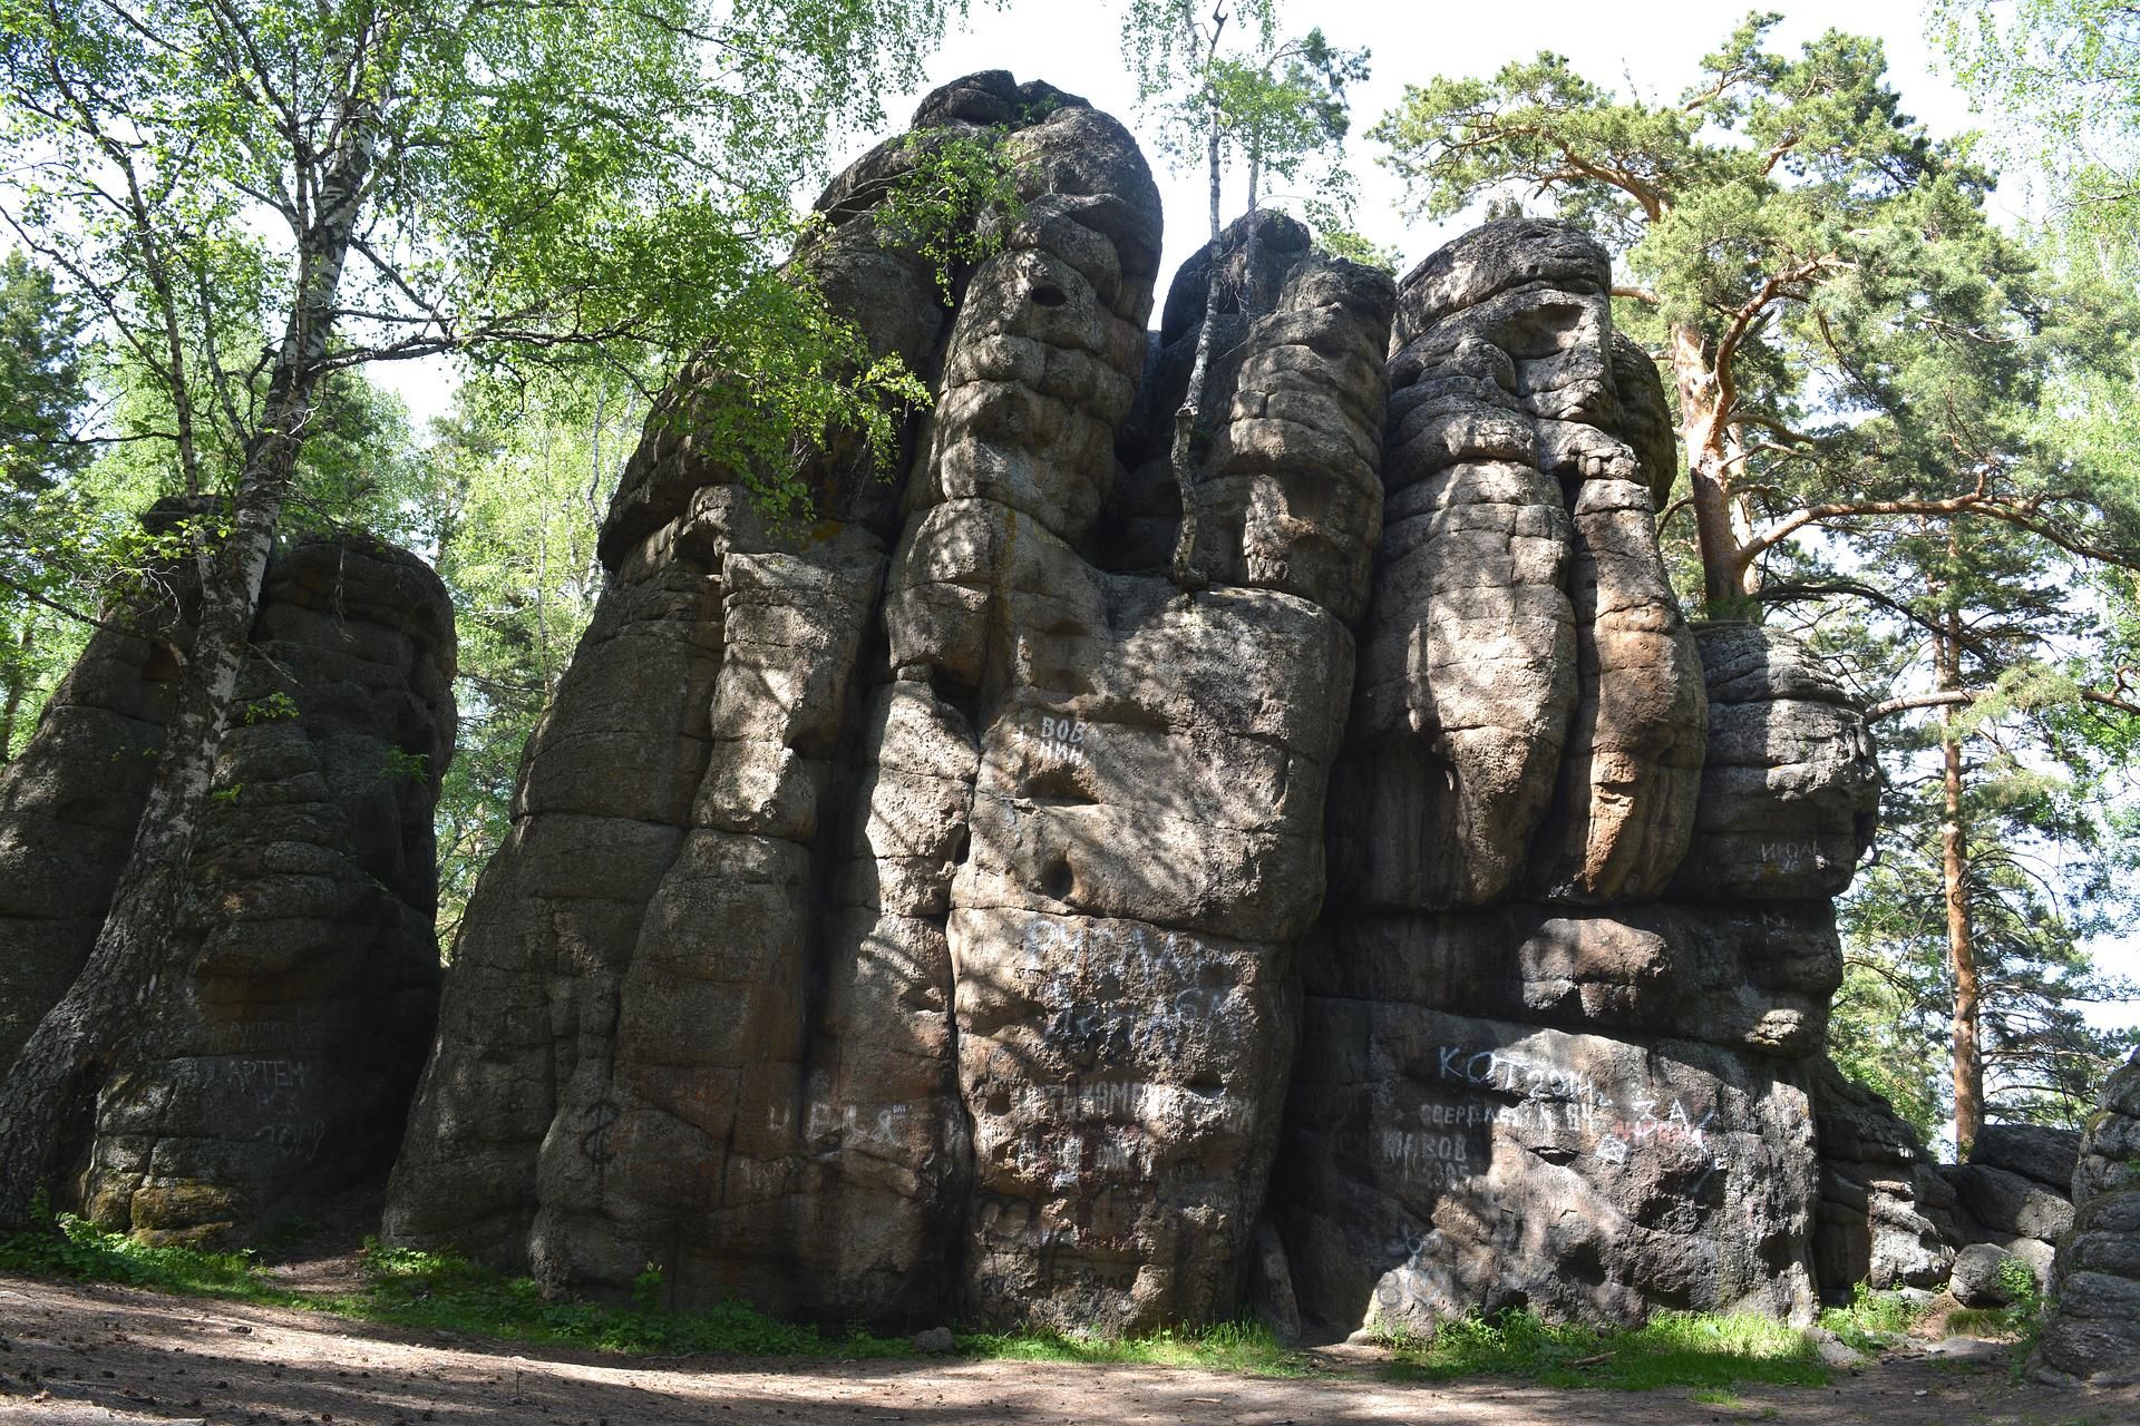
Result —
[[[445, 590], [400, 549], [306, 539], [268, 569], [253, 650], [171, 971], [98, 1097], [79, 1199], [101, 1223], [259, 1229], [291, 1199], [379, 1174], [430, 1039], [430, 812], [454, 750]], [[24, 1035], [109, 904], [169, 718], [167, 658], [98, 633], [0, 782], [11, 851], [90, 849], [51, 919], [28, 900], [34, 864], [0, 862], [9, 934], [30, 932], [15, 964], [39, 988], [9, 988]]]

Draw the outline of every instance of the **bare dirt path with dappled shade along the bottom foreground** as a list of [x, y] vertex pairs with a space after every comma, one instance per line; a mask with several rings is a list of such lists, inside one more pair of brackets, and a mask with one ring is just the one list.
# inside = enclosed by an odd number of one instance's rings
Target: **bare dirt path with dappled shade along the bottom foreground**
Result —
[[2003, 1364], [1890, 1360], [1830, 1388], [1566, 1392], [1395, 1385], [1372, 1362], [1310, 1379], [1156, 1366], [614, 1358], [407, 1332], [312, 1313], [0, 1276], [0, 1426], [2131, 1426], [2140, 1392], [2014, 1385]]

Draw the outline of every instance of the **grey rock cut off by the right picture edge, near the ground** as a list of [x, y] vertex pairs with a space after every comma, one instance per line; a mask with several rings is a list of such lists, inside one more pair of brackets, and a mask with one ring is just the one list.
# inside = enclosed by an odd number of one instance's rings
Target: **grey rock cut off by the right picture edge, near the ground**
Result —
[[2140, 1381], [2140, 1050], [2104, 1084], [2080, 1135], [2074, 1206], [2037, 1370], [2072, 1383]]

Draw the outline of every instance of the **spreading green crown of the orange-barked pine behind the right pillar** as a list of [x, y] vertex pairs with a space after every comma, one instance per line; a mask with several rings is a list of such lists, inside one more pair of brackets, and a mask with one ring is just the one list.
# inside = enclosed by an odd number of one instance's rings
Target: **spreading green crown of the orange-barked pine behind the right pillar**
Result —
[[1992, 227], [1975, 148], [1902, 111], [1877, 41], [1780, 53], [1776, 24], [1740, 24], [1676, 103], [1541, 53], [1408, 86], [1372, 133], [1417, 212], [1545, 199], [1620, 254], [1616, 321], [1669, 353], [1673, 400], [1701, 402], [1680, 417], [1695, 494], [1721, 490], [1706, 601], [1802, 584], [1832, 554], [1813, 532], [1843, 558], [1917, 515], [2140, 547], [2131, 511], [2029, 430], [2050, 353], [2127, 342], [2131, 304], [2061, 289]]

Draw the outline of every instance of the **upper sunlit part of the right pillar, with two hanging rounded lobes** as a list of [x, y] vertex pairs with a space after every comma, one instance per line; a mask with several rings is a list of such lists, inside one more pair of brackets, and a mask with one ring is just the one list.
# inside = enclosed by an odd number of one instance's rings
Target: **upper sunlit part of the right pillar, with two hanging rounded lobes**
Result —
[[1701, 787], [1703, 686], [1614, 383], [1611, 272], [1562, 224], [1498, 222], [1402, 289], [1389, 532], [1333, 823], [1374, 906], [1663, 892]]

